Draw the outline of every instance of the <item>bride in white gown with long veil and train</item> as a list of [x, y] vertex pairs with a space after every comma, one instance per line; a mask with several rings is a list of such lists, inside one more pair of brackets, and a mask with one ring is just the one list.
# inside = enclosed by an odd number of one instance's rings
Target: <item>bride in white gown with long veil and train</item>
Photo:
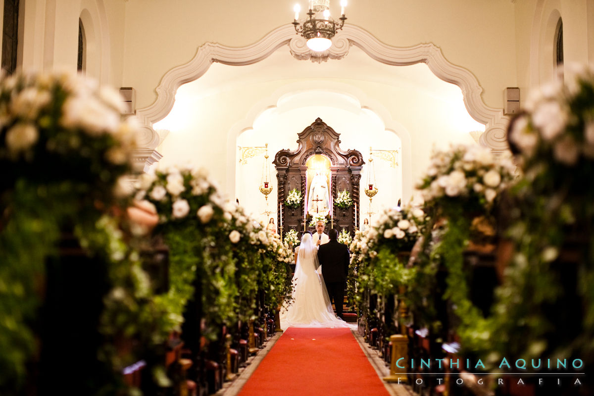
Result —
[[349, 327], [332, 309], [326, 284], [316, 271], [317, 249], [310, 232], [301, 237], [297, 265], [293, 275], [293, 300], [281, 313], [282, 328]]

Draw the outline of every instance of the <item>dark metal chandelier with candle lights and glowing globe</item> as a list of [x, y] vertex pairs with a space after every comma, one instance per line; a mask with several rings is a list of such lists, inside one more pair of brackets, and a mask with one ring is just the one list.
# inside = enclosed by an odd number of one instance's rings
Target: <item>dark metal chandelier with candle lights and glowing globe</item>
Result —
[[[309, 49], [316, 52], [322, 52], [330, 48], [332, 45], [331, 39], [336, 34], [336, 31], [341, 30], [345, 24], [345, 7], [346, 0], [340, 0], [340, 15], [338, 20], [330, 18], [330, 0], [309, 0], [309, 15], [308, 18], [301, 24], [299, 20], [299, 11], [301, 6], [295, 4], [293, 11], [295, 11], [295, 31], [307, 40]], [[321, 13], [321, 17], [320, 14]]]

